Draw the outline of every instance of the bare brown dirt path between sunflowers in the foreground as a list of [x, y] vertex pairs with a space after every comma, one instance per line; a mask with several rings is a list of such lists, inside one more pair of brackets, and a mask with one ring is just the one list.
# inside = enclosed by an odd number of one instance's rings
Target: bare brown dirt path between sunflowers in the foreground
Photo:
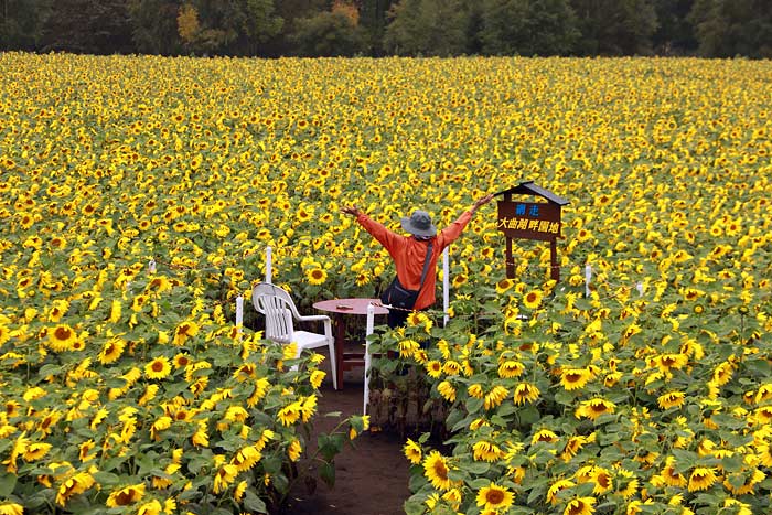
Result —
[[[362, 371], [345, 374], [344, 388], [335, 391], [328, 378], [322, 385], [319, 415], [314, 420], [317, 432], [330, 431], [337, 419], [323, 417], [331, 411], [344, 416], [362, 412]], [[317, 434], [311, 436], [310, 448], [315, 448]], [[290, 493], [287, 515], [397, 515], [404, 514], [403, 503], [408, 498], [409, 463], [403, 454], [403, 439], [393, 433], [367, 431], [335, 459], [335, 485], [330, 489], [322, 481], [314, 492], [298, 482]], [[309, 449], [310, 450], [310, 449]]]

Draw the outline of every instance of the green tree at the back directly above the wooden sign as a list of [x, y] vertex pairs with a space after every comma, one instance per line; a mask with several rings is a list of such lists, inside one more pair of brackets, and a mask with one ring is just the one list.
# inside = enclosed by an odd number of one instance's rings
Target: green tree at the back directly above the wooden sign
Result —
[[567, 55], [579, 37], [568, 0], [483, 0], [482, 52]]

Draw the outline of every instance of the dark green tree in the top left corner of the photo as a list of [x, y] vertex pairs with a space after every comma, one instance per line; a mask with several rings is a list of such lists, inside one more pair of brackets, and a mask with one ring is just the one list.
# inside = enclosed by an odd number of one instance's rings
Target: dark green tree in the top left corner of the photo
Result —
[[52, 0], [0, 0], [0, 50], [35, 50]]

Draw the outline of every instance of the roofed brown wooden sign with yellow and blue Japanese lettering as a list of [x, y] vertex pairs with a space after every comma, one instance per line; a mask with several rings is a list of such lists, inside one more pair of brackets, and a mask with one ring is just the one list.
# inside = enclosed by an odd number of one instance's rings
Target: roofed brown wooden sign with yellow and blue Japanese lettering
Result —
[[[515, 202], [512, 200], [513, 194], [538, 196], [546, 202]], [[496, 193], [496, 196], [498, 195], [504, 196], [504, 200], [498, 201], [497, 227], [506, 236], [506, 277], [515, 278], [512, 240], [537, 239], [549, 242], [550, 277], [559, 281], [557, 239], [561, 237], [560, 208], [569, 202], [537, 186], [533, 181], [522, 182], [515, 187]]]

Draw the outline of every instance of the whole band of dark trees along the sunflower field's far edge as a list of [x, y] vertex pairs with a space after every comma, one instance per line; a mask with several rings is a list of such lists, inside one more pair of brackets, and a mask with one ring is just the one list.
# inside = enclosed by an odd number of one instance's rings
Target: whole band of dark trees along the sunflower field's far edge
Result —
[[772, 57], [770, 0], [0, 0], [0, 50]]

